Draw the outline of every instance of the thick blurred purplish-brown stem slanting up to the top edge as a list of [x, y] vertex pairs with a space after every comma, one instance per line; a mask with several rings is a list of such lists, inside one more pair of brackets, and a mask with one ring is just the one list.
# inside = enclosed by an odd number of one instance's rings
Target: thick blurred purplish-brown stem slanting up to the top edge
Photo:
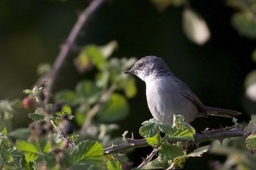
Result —
[[[90, 15], [96, 11], [106, 0], [94, 0], [92, 3], [82, 11], [80, 14], [76, 24], [74, 25], [72, 31], [70, 32], [65, 44], [62, 45], [61, 51], [59, 52], [54, 64], [53, 68], [49, 73], [46, 73], [41, 78], [39, 78], [38, 82], [36, 83], [36, 86], [42, 86], [45, 85], [45, 89], [48, 91], [48, 93], [51, 93], [51, 89], [53, 86], [53, 83], [59, 73], [59, 69], [61, 68], [61, 65], [63, 64], [63, 61], [67, 57], [67, 54], [69, 53], [72, 45], [75, 42], [75, 39], [79, 35], [79, 32], [82, 28], [82, 26], [88, 21], [88, 18]], [[45, 103], [48, 102], [50, 95], [46, 96]]]

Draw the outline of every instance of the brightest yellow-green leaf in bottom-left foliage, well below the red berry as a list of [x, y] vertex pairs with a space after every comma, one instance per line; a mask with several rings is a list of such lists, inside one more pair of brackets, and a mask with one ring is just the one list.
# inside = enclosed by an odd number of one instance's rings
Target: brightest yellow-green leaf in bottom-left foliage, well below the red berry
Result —
[[37, 149], [32, 143], [24, 140], [16, 141], [17, 150], [25, 152], [25, 159], [27, 162], [34, 161], [37, 158]]

